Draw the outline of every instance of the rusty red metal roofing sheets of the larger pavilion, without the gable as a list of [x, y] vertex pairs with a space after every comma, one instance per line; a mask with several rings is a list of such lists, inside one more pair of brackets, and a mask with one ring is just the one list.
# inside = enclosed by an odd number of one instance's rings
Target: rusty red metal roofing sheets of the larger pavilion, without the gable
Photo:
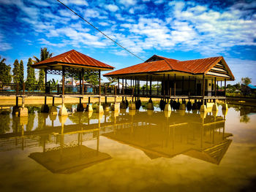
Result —
[[[152, 61], [157, 58], [157, 61]], [[191, 74], [202, 74], [208, 72], [212, 66], [222, 60], [222, 56], [214, 58], [202, 58], [189, 61], [178, 61], [172, 58], [164, 58], [162, 56], [153, 55], [142, 64], [129, 66], [124, 69], [119, 69], [114, 72], [104, 74], [104, 76], [118, 75], [118, 74], [136, 74], [147, 72], [166, 72], [178, 71], [188, 72]]]

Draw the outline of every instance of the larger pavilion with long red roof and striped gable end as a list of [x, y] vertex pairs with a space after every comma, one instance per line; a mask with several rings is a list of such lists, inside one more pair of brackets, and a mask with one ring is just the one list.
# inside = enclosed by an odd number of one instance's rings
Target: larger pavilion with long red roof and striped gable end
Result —
[[[165, 98], [202, 98], [216, 99], [225, 93], [218, 93], [217, 83], [234, 80], [234, 76], [222, 56], [213, 58], [178, 61], [153, 55], [142, 64], [129, 66], [104, 74], [121, 80], [135, 81], [135, 96]], [[140, 90], [140, 81], [146, 81], [146, 91]], [[148, 92], [148, 82], [149, 92]], [[152, 82], [161, 82], [161, 90], [152, 92]], [[158, 83], [157, 83], [158, 84]], [[226, 87], [226, 86], [225, 86]]]

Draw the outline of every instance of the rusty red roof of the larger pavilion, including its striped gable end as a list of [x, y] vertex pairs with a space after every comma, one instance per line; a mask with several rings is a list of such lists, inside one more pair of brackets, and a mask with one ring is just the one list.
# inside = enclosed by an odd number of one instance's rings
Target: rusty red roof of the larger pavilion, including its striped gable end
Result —
[[124, 69], [116, 70], [114, 72], [109, 72], [107, 74], [104, 74], [104, 76], [122, 77], [127, 75], [160, 74], [163, 72], [208, 74], [208, 72], [210, 72], [210, 70], [217, 64], [222, 65], [219, 66], [217, 70], [220, 70], [222, 72], [223, 77], [226, 77], [230, 80], [234, 79], [232, 72], [230, 71], [222, 56], [188, 61], [178, 61], [172, 58], [165, 58], [159, 55], [153, 55], [151, 58], [148, 58], [148, 60], [142, 64], [137, 64], [134, 66], [126, 67]]

